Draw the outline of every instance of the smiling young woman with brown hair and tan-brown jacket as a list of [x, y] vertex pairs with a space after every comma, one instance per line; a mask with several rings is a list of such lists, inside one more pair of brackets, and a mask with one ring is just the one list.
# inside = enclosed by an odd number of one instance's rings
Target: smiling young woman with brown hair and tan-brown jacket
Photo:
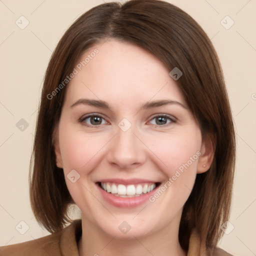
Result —
[[[30, 199], [52, 234], [1, 255], [230, 255], [216, 245], [234, 155], [202, 28], [164, 1], [98, 5], [68, 28], [45, 74]], [[74, 203], [81, 219], [68, 217]]]

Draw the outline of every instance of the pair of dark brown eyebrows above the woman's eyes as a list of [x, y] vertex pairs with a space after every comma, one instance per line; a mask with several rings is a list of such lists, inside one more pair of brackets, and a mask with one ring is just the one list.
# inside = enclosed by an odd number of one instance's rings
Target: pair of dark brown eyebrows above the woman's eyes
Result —
[[[111, 110], [111, 107], [109, 106], [109, 104], [107, 102], [105, 102], [103, 100], [88, 99], [88, 98], [80, 98], [77, 101], [75, 101], [70, 107], [74, 107], [79, 104], [91, 105], [91, 106], [96, 106], [96, 107], [100, 107], [103, 109]], [[184, 106], [182, 103], [180, 103], [176, 100], [171, 100], [171, 99], [148, 101], [148, 102], [145, 102], [140, 107], [140, 109], [149, 109], [149, 108], [159, 107], [159, 106], [167, 105], [167, 104], [177, 104], [177, 105], [182, 106], [183, 108], [187, 109], [187, 107]]]

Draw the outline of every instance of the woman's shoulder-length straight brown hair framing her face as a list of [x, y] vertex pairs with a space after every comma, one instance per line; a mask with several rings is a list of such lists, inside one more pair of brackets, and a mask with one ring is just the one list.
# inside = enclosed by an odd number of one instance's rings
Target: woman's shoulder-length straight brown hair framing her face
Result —
[[[169, 70], [178, 67], [176, 81], [202, 134], [214, 144], [211, 167], [197, 174], [184, 204], [179, 242], [187, 249], [195, 229], [207, 247], [222, 235], [228, 219], [235, 158], [232, 116], [221, 66], [206, 33], [186, 12], [160, 0], [109, 2], [82, 14], [58, 42], [47, 67], [37, 117], [30, 167], [30, 201], [35, 218], [49, 232], [61, 229], [73, 202], [63, 170], [55, 163], [53, 133], [58, 123], [67, 86], [52, 91], [70, 74], [81, 54], [107, 38], [135, 43], [158, 57]], [[50, 98], [50, 99], [49, 99]], [[33, 164], [32, 164], [33, 160]]]

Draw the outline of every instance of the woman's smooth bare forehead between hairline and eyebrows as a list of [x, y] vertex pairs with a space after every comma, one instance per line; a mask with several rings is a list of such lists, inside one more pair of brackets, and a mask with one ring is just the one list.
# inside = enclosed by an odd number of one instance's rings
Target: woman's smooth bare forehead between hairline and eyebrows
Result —
[[185, 105], [165, 65], [150, 52], [128, 42], [107, 40], [86, 50], [74, 67], [66, 100], [102, 99], [109, 104], [173, 99]]

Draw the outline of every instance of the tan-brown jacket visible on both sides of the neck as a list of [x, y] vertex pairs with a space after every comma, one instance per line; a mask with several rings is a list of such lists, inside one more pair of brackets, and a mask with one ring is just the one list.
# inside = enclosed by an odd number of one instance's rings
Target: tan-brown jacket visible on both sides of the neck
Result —
[[[76, 219], [60, 232], [34, 240], [0, 247], [1, 256], [79, 256], [77, 241], [81, 236], [81, 220]], [[232, 256], [220, 248], [205, 250], [195, 233], [189, 238], [187, 256]]]

